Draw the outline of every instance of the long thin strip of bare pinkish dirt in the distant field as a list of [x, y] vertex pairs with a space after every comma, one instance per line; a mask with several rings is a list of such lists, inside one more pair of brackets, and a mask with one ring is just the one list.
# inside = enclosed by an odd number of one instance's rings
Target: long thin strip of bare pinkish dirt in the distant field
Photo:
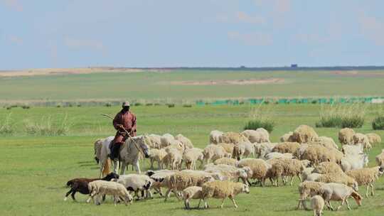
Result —
[[248, 79], [248, 80], [206, 80], [206, 81], [178, 81], [169, 82], [171, 85], [263, 85], [263, 84], [279, 84], [284, 79], [267, 78], [267, 79]]

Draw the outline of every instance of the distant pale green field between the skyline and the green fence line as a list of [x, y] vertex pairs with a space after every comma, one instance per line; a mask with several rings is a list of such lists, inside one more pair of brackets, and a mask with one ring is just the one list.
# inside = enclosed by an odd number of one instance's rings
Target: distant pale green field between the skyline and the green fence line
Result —
[[383, 70], [171, 70], [0, 77], [0, 101], [383, 96]]

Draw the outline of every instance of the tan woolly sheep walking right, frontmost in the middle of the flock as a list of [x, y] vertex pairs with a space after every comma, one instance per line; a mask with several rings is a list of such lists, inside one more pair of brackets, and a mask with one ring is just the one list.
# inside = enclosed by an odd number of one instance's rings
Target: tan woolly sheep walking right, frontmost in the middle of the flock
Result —
[[208, 208], [208, 198], [223, 199], [220, 208], [223, 208], [225, 198], [230, 198], [233, 205], [237, 208], [238, 205], [236, 205], [235, 202], [235, 195], [238, 195], [239, 193], [250, 193], [250, 188], [243, 183], [215, 180], [213, 182], [205, 183], [202, 188], [202, 193], [205, 208]]

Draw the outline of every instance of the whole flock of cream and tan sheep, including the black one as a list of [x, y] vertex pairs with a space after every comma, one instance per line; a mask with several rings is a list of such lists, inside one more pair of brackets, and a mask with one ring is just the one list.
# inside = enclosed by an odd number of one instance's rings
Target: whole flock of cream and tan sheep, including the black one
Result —
[[[292, 185], [297, 177], [302, 182], [297, 207], [307, 209], [306, 200], [311, 199], [314, 214], [321, 215], [324, 205], [334, 210], [331, 200], [341, 201], [338, 208], [346, 203], [350, 209], [349, 197], [361, 205], [358, 186], [367, 186], [367, 197], [369, 189], [374, 195], [373, 185], [384, 168], [384, 150], [376, 156], [378, 166], [366, 167], [368, 151], [373, 144], [381, 142], [380, 136], [355, 133], [348, 128], [338, 132], [341, 149], [333, 139], [319, 136], [306, 125], [284, 134], [279, 143], [271, 143], [265, 129], [241, 133], [211, 131], [210, 144], [203, 149], [194, 147], [181, 134], [150, 134], [144, 139], [149, 146], [151, 171], [110, 173], [102, 179], [75, 178], [67, 183], [70, 191], [65, 200], [70, 194], [75, 200], [75, 193], [80, 192], [89, 194], [87, 202], [92, 199], [97, 205], [105, 195], [112, 195], [115, 205], [119, 201], [127, 204], [133, 200], [131, 191], [137, 199], [152, 198], [155, 191], [165, 201], [174, 193], [178, 200], [183, 199], [187, 209], [191, 199], [200, 200], [198, 207], [202, 200], [204, 207], [208, 207], [208, 198], [222, 199], [220, 207], [229, 198], [238, 207], [235, 195], [250, 193], [252, 184], [260, 183], [264, 187], [266, 180], [270, 180], [272, 185], [279, 186], [281, 180], [284, 185]], [[95, 142], [95, 158], [100, 157], [101, 142]]]

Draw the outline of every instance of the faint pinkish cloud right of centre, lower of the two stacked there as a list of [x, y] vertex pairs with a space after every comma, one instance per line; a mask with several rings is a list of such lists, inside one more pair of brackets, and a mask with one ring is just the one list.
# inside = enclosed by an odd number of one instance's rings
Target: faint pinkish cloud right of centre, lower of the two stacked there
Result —
[[270, 45], [272, 37], [267, 33], [240, 33], [238, 31], [228, 32], [228, 37], [235, 41], [240, 41], [245, 45]]

